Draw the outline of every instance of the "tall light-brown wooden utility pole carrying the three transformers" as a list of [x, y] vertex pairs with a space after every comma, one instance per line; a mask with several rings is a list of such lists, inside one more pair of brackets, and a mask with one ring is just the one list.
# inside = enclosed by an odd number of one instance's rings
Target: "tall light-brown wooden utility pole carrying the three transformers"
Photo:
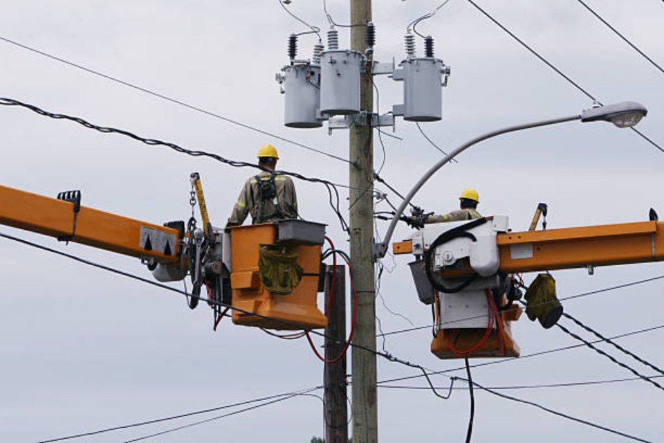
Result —
[[[371, 0], [351, 0], [351, 49], [365, 53], [365, 25], [371, 21]], [[367, 64], [367, 66], [370, 66]], [[353, 281], [358, 293], [358, 313], [352, 350], [353, 443], [378, 441], [376, 399], [376, 289], [374, 282], [374, 143], [371, 114], [374, 91], [371, 70], [360, 78], [360, 109], [365, 125], [350, 129], [350, 247]]]

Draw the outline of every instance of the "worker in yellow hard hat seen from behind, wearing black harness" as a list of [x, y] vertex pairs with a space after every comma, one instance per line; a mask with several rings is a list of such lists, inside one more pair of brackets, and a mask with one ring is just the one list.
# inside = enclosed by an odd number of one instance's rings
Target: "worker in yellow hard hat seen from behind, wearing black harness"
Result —
[[265, 168], [245, 183], [228, 219], [228, 226], [243, 224], [251, 214], [252, 224], [297, 218], [295, 185], [290, 177], [275, 174], [279, 154], [273, 145], [258, 151], [258, 165]]

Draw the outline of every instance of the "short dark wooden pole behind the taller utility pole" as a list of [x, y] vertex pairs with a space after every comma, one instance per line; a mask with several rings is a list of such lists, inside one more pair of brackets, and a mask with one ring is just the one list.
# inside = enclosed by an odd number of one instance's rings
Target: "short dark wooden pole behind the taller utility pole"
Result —
[[[337, 266], [332, 287], [333, 266], [325, 275], [325, 306], [329, 306], [325, 327], [325, 359], [332, 360], [344, 350], [346, 342], [346, 267]], [[331, 298], [331, 302], [330, 302]], [[323, 372], [325, 386], [325, 441], [348, 442], [348, 395], [346, 388], [346, 356], [326, 363]]]

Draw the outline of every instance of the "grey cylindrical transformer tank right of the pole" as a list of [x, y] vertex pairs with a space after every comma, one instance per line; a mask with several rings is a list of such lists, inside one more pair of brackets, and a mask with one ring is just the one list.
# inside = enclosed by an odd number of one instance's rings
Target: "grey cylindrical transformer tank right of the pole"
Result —
[[403, 119], [413, 122], [441, 120], [443, 74], [448, 68], [442, 60], [423, 57], [401, 62], [403, 67]]

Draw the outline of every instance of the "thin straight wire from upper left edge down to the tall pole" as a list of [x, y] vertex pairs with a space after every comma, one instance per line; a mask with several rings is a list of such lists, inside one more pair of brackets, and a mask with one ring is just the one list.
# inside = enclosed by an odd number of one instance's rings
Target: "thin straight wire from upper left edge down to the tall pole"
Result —
[[93, 70], [93, 69], [86, 68], [85, 66], [83, 66], [83, 65], [81, 65], [81, 64], [77, 64], [77, 63], [74, 63], [74, 62], [69, 62], [68, 60], [65, 60], [65, 59], [62, 58], [62, 57], [57, 57], [57, 55], [52, 55], [52, 54], [46, 53], [46, 52], [41, 51], [41, 50], [39, 50], [39, 49], [37, 49], [37, 48], [33, 48], [32, 46], [27, 46], [27, 45], [25, 45], [25, 44], [22, 44], [22, 43], [16, 42], [15, 40], [8, 39], [7, 37], [2, 37], [2, 36], [0, 36], [0, 40], [2, 40], [3, 42], [7, 42], [7, 43], [9, 43], [9, 44], [13, 44], [13, 45], [15, 45], [15, 46], [18, 46], [19, 48], [27, 49], [28, 51], [32, 51], [33, 53], [36, 53], [36, 54], [39, 54], [39, 55], [43, 55], [44, 57], [48, 57], [48, 58], [50, 58], [51, 60], [56, 60], [57, 62], [61, 62], [61, 63], [67, 64], [68, 66], [73, 66], [74, 68], [76, 68], [76, 69], [80, 69], [80, 70], [82, 70], [82, 71], [86, 71], [87, 73], [91, 73], [91, 74], [93, 74], [93, 75], [98, 75], [98, 76], [101, 77], [101, 78], [105, 78], [105, 79], [107, 79], [107, 80], [111, 80], [111, 82], [116, 82], [116, 83], [118, 83], [118, 84], [122, 84], [122, 85], [124, 85], [124, 86], [126, 86], [126, 87], [130, 87], [131, 89], [136, 89], [136, 91], [144, 92], [144, 93], [147, 93], [147, 94], [149, 94], [149, 95], [151, 95], [151, 96], [154, 96], [154, 97], [157, 97], [157, 98], [161, 98], [162, 100], [166, 100], [166, 101], [168, 101], [168, 102], [175, 103], [176, 105], [180, 105], [180, 106], [183, 106], [183, 107], [185, 107], [185, 108], [192, 109], [192, 111], [200, 112], [201, 114], [205, 114], [205, 115], [210, 116], [210, 117], [219, 118], [219, 120], [223, 120], [223, 121], [225, 121], [226, 123], [230, 123], [230, 124], [232, 124], [232, 125], [236, 125], [236, 126], [239, 126], [239, 127], [243, 127], [243, 128], [245, 128], [245, 129], [249, 129], [250, 131], [257, 132], [257, 133], [259, 133], [259, 134], [263, 134], [263, 135], [266, 135], [266, 136], [270, 136], [270, 137], [277, 138], [277, 140], [284, 141], [284, 142], [286, 142], [286, 143], [291, 143], [291, 145], [295, 145], [295, 146], [297, 146], [297, 147], [302, 147], [303, 149], [306, 149], [306, 150], [309, 150], [309, 151], [312, 151], [312, 152], [317, 152], [318, 154], [322, 154], [322, 155], [324, 155], [324, 156], [328, 156], [328, 157], [331, 158], [331, 159], [335, 159], [335, 160], [343, 161], [343, 162], [345, 162], [345, 163], [351, 163], [351, 164], [353, 164], [353, 162], [351, 162], [351, 161], [349, 161], [349, 160], [347, 160], [347, 159], [343, 159], [342, 157], [335, 156], [334, 154], [330, 154], [329, 152], [324, 152], [324, 151], [322, 151], [322, 150], [317, 150], [315, 147], [311, 147], [311, 146], [308, 146], [308, 145], [304, 145], [304, 144], [302, 144], [302, 143], [299, 143], [299, 142], [297, 142], [297, 141], [290, 140], [290, 139], [288, 139], [288, 138], [286, 138], [286, 137], [279, 136], [279, 135], [277, 135], [277, 134], [272, 134], [271, 132], [264, 131], [263, 129], [259, 129], [259, 128], [255, 127], [255, 126], [248, 125], [247, 123], [242, 123], [242, 122], [240, 122], [240, 121], [238, 121], [238, 120], [233, 120], [232, 118], [228, 118], [228, 117], [222, 116], [221, 114], [216, 114], [215, 112], [208, 111], [208, 110], [203, 109], [203, 108], [201, 108], [201, 107], [197, 107], [197, 106], [194, 106], [194, 105], [190, 105], [190, 104], [187, 103], [187, 102], [183, 102], [183, 101], [181, 101], [181, 100], [176, 100], [175, 98], [171, 98], [171, 97], [169, 97], [169, 96], [165, 96], [165, 95], [163, 95], [163, 94], [161, 94], [161, 93], [158, 93], [158, 92], [156, 92], [156, 91], [152, 91], [151, 89], [147, 89], [147, 88], [144, 88], [144, 87], [140, 87], [140, 86], [138, 86], [138, 85], [136, 85], [136, 84], [133, 84], [133, 83], [127, 82], [127, 81], [125, 81], [125, 80], [120, 80], [119, 78], [113, 77], [112, 75], [104, 74], [104, 73], [102, 73], [102, 72], [100, 72], [100, 71], [95, 71], [95, 70]]

